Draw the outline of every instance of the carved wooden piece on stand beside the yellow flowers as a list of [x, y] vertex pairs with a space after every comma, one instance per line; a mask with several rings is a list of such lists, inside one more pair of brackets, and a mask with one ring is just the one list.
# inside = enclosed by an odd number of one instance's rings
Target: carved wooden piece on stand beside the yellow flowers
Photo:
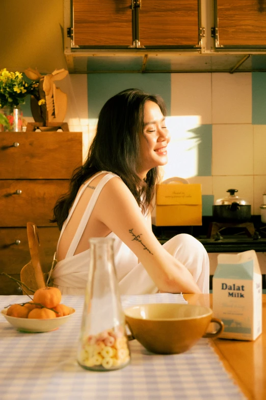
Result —
[[[31, 96], [31, 111], [36, 124], [29, 123], [27, 131], [33, 130], [30, 126], [46, 131], [66, 128], [67, 124], [63, 121], [67, 111], [67, 95], [56, 87], [55, 81], [65, 78], [68, 71], [64, 68], [55, 69], [51, 74], [41, 75], [37, 68], [28, 68], [24, 73], [33, 81], [39, 81], [37, 94]], [[68, 130], [68, 127], [63, 130]]]

